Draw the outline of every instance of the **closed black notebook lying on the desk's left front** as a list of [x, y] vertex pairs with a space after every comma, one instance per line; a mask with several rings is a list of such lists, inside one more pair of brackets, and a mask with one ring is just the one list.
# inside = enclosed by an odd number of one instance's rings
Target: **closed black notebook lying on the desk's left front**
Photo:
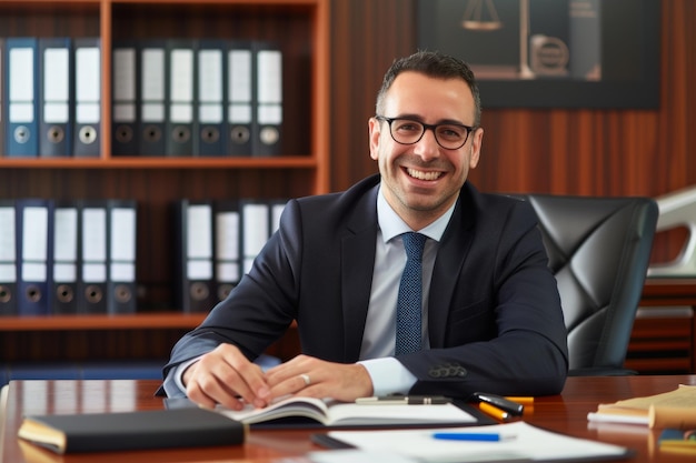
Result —
[[56, 453], [238, 445], [246, 425], [203, 409], [26, 416], [19, 437]]

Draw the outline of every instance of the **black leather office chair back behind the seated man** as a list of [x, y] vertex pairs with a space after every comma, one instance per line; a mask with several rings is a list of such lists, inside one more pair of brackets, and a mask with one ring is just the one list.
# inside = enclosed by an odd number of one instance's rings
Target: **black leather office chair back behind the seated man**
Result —
[[649, 198], [524, 194], [540, 223], [568, 329], [570, 375], [624, 369], [655, 236]]

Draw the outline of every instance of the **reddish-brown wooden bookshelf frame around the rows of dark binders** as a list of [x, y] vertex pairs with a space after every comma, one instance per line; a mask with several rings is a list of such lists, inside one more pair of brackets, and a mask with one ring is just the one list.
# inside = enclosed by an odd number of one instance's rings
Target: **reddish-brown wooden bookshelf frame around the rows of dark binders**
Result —
[[[329, 0], [0, 0], [2, 37], [99, 37], [100, 154], [92, 159], [0, 155], [0, 198], [135, 199], [138, 313], [1, 319], [2, 361], [60, 355], [157, 358], [202, 315], [172, 306], [170, 204], [179, 199], [295, 198], [329, 190]], [[115, 40], [264, 40], [282, 53], [281, 153], [253, 157], [141, 157], [111, 152]], [[123, 338], [126, 336], [126, 338]], [[132, 338], [135, 336], [135, 338]], [[28, 349], [27, 340], [37, 345]], [[120, 341], [119, 341], [120, 340]], [[152, 345], [157, 343], [155, 349]], [[46, 345], [40, 345], [46, 344]], [[95, 345], [105, 345], [93, 349]], [[136, 345], [136, 348], [132, 348]], [[162, 350], [161, 346], [165, 346]], [[89, 348], [88, 348], [89, 346]], [[103, 351], [103, 352], [101, 352]], [[91, 356], [95, 356], [91, 355]]]

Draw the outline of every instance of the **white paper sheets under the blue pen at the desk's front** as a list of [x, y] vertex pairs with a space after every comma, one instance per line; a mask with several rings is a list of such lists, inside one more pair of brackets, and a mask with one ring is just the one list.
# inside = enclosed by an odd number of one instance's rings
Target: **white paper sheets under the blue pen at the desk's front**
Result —
[[[499, 440], [437, 439], [457, 433], [496, 435]], [[330, 431], [312, 437], [315, 442], [330, 449], [351, 447], [364, 452], [389, 452], [420, 463], [622, 460], [632, 453], [619, 445], [558, 434], [524, 421], [461, 429]]]

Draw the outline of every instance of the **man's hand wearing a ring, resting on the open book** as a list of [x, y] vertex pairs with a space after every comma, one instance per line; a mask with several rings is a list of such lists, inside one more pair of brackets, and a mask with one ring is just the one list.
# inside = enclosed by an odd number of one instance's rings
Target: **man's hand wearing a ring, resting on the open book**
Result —
[[357, 363], [344, 364], [298, 355], [266, 372], [270, 400], [284, 395], [331, 397], [352, 402], [372, 395], [372, 380]]

